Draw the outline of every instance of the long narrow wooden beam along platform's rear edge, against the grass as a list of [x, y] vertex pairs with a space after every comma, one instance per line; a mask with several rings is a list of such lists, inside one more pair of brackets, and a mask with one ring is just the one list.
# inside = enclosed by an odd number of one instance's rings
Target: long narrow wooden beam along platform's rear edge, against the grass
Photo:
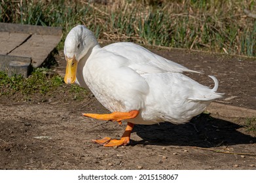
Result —
[[0, 32], [54, 35], [62, 37], [62, 27], [45, 27], [39, 25], [7, 24], [0, 22]]

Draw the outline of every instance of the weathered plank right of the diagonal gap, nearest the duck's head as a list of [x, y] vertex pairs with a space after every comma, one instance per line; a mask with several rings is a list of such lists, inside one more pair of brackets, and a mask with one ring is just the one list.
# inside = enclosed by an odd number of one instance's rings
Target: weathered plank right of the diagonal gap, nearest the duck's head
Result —
[[24, 44], [13, 50], [10, 56], [29, 57], [33, 67], [40, 67], [54, 50], [61, 37], [52, 35], [32, 35]]

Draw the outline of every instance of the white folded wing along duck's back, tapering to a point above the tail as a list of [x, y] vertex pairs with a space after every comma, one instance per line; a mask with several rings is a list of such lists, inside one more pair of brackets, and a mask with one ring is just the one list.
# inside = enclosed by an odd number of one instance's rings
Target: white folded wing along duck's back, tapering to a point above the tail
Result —
[[145, 73], [200, 73], [187, 69], [174, 61], [162, 58], [153, 52], [132, 42], [117, 42], [103, 49], [122, 56], [130, 61], [129, 67], [139, 74]]

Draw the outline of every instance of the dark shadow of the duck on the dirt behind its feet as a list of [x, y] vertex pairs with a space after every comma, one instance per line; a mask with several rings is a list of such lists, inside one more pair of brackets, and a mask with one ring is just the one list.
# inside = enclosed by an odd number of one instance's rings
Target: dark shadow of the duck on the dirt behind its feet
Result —
[[165, 122], [159, 125], [135, 125], [133, 132], [136, 132], [142, 140], [131, 140], [130, 145], [153, 144], [209, 148], [256, 142], [255, 137], [238, 131], [242, 127], [242, 125], [229, 121], [211, 118], [208, 114], [200, 114], [187, 124], [175, 125]]

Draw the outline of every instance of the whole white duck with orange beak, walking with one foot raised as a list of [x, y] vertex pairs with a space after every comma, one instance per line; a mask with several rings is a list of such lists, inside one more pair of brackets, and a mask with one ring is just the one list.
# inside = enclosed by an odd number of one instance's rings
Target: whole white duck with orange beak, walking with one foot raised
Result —
[[105, 137], [94, 140], [104, 146], [126, 145], [134, 124], [171, 122], [183, 124], [222, 97], [213, 89], [192, 80], [191, 71], [153, 54], [132, 42], [117, 42], [100, 47], [94, 34], [83, 25], [73, 27], [65, 39], [67, 67], [65, 83], [88, 86], [96, 99], [111, 114], [83, 114], [98, 120], [126, 120], [120, 140]]

